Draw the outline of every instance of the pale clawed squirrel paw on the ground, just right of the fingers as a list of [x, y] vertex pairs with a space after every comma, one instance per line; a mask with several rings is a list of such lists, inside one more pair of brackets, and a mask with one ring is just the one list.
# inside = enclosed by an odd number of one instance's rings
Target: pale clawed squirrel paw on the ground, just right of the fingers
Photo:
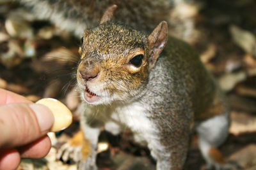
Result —
[[81, 150], [82, 146], [71, 146], [69, 143], [65, 143], [58, 150], [56, 158], [62, 159], [64, 162], [72, 159], [77, 163], [81, 160]]

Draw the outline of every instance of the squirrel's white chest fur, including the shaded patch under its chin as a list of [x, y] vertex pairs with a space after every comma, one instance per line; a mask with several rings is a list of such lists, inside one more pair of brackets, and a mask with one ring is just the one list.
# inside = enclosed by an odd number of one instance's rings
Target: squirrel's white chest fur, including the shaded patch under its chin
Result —
[[[97, 119], [104, 122], [106, 131], [112, 134], [119, 134], [127, 128], [131, 129], [134, 140], [141, 145], [148, 146], [154, 158], [157, 158], [159, 150], [164, 152], [164, 147], [159, 143], [159, 130], [148, 118], [150, 115], [148, 115], [145, 104], [112, 105], [107, 108], [99, 106], [86, 113], [97, 115]], [[170, 155], [170, 153], [166, 154]]]

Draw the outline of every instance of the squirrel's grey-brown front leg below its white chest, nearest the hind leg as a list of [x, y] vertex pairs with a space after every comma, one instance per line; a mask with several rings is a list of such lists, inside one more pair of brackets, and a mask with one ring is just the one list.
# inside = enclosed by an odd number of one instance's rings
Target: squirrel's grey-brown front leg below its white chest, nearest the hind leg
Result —
[[178, 170], [184, 166], [189, 148], [190, 129], [188, 124], [178, 124], [175, 122], [172, 127], [165, 125], [166, 129], [159, 129], [160, 138], [148, 138], [148, 148], [152, 157], [157, 160], [157, 170]]

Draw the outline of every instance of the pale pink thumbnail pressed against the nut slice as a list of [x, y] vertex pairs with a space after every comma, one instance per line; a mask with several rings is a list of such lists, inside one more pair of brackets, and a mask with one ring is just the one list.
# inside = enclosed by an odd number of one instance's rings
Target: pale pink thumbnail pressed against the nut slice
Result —
[[41, 132], [51, 129], [54, 117], [49, 108], [41, 104], [29, 104], [29, 107], [35, 112]]

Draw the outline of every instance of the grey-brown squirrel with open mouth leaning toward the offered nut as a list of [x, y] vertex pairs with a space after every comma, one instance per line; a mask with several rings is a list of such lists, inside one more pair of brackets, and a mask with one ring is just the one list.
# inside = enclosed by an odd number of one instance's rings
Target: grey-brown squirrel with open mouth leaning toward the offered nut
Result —
[[79, 169], [97, 169], [102, 129], [131, 129], [157, 170], [182, 169], [195, 129], [207, 167], [228, 167], [217, 149], [228, 136], [230, 107], [212, 74], [184, 41], [168, 36], [165, 21], [149, 35], [112, 22], [110, 6], [81, 39], [77, 89], [81, 127], [90, 144]]

